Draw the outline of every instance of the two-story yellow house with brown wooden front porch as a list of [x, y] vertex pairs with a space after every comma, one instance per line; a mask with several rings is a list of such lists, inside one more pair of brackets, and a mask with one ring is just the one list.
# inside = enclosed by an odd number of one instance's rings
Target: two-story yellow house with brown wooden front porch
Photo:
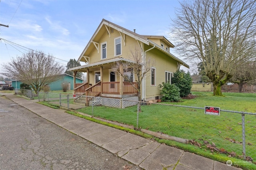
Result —
[[120, 61], [134, 62], [132, 51], [139, 49], [141, 62], [150, 60], [152, 63], [151, 71], [147, 72], [140, 86], [141, 99], [160, 99], [158, 85], [172, 82], [173, 73], [181, 65], [189, 68], [170, 53], [173, 47], [164, 36], [139, 35], [135, 30], [130, 31], [103, 19], [78, 59], [84, 65], [68, 69], [74, 72], [74, 77], [78, 71], [87, 73], [87, 82], [84, 84], [76, 84], [74, 79], [74, 94], [138, 100], [137, 90], [133, 87], [137, 86], [134, 73], [127, 72], [131, 75], [131, 84], [113, 72], [112, 65]]

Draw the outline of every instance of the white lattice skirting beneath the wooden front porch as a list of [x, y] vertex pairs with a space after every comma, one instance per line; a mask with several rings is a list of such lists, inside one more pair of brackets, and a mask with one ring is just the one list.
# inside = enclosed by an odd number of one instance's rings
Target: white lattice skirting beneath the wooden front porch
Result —
[[[131, 100], [131, 101], [126, 101]], [[108, 106], [108, 107], [116, 107], [116, 108], [126, 108], [129, 106], [134, 106], [137, 104], [138, 96], [122, 98], [121, 99], [113, 99], [113, 98], [94, 98], [94, 100], [90, 101], [89, 106]]]

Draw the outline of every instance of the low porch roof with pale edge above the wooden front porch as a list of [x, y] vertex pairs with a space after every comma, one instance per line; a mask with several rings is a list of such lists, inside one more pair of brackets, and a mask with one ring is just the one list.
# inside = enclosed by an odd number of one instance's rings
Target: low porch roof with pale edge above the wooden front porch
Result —
[[96, 71], [96, 70], [100, 69], [100, 66], [103, 66], [103, 69], [110, 69], [112, 64], [116, 61], [126, 61], [129, 63], [134, 63], [134, 61], [131, 61], [128, 59], [123, 59], [122, 57], [120, 57], [120, 58], [114, 58], [114, 59], [100, 61], [100, 62], [93, 63], [93, 64], [86, 64], [86, 65], [70, 68], [70, 69], [68, 69], [68, 71], [86, 72], [87, 68], [90, 68], [90, 71]]

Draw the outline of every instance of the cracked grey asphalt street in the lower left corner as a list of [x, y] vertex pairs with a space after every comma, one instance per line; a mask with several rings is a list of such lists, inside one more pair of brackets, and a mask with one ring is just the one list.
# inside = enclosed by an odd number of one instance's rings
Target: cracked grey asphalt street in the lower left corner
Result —
[[1, 170], [140, 170], [138, 166], [0, 97]]

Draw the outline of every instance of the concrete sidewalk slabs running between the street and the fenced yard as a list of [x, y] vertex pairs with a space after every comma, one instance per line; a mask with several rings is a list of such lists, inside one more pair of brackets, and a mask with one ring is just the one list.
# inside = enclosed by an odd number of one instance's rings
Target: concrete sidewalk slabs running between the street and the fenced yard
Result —
[[62, 109], [52, 109], [13, 94], [2, 95], [145, 170], [162, 170], [163, 168], [167, 170], [240, 170], [240, 168], [70, 115]]

